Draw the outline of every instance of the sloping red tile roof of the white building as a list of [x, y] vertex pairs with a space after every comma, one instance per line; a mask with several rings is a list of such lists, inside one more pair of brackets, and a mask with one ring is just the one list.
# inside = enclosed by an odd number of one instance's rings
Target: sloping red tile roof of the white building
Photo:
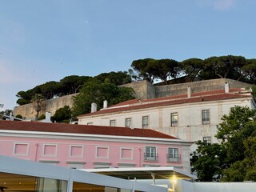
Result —
[[242, 90], [240, 89], [230, 89], [230, 93], [225, 93], [225, 90], [211, 90], [203, 93], [195, 93], [191, 95], [191, 98], [187, 98], [187, 94], [182, 94], [166, 98], [146, 99], [142, 100], [141, 102], [139, 102], [137, 99], [133, 99], [127, 102], [119, 103], [115, 106], [110, 106], [105, 110], [98, 110], [90, 114], [82, 114], [78, 116], [78, 118], [94, 116], [98, 114], [110, 114], [121, 111], [140, 110], [151, 107], [172, 106], [193, 102], [221, 101], [234, 98], [252, 98], [252, 96], [250, 94], [248, 95], [248, 93], [242, 93]]

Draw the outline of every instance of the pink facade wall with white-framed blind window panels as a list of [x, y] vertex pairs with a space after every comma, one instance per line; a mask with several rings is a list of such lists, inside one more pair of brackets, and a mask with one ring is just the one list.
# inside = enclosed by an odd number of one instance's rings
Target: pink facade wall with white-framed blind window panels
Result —
[[[158, 162], [144, 161], [146, 146], [156, 146]], [[0, 137], [0, 154], [32, 161], [58, 161], [58, 166], [68, 166], [67, 162], [85, 162], [82, 168], [94, 168], [94, 162], [110, 162], [110, 166], [119, 167], [120, 163], [134, 164], [135, 167], [146, 165], [182, 166], [182, 162], [168, 163], [164, 145], [136, 142], [86, 141], [76, 139], [18, 138]], [[118, 164], [119, 163], [119, 164]]]

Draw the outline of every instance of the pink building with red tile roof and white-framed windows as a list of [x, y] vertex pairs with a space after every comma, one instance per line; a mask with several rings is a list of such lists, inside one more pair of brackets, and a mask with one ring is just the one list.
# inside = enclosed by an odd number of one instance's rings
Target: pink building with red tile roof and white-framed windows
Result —
[[92, 169], [174, 166], [190, 171], [191, 142], [149, 129], [0, 120], [0, 154]]

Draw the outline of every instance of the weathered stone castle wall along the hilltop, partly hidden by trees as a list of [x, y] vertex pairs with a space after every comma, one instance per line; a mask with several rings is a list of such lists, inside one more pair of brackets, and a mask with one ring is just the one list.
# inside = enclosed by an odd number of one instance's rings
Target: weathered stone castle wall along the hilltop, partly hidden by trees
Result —
[[[187, 94], [187, 86], [191, 87], [191, 93], [198, 93], [209, 90], [224, 90], [226, 82], [229, 83], [230, 88], [249, 88], [252, 86], [245, 82], [238, 82], [227, 78], [218, 78], [200, 82], [186, 82], [167, 86], [154, 86], [145, 80], [139, 82], [131, 82], [123, 86], [132, 87], [135, 92], [134, 97], [143, 100], [148, 98], [162, 98], [170, 95]], [[54, 115], [55, 111], [63, 106], [72, 107], [74, 105], [72, 98], [75, 95], [76, 94], [70, 94], [61, 98], [52, 98], [47, 100], [46, 107], [40, 112], [39, 116], [41, 114], [46, 114], [46, 112], [50, 112], [52, 115]], [[24, 106], [15, 107], [14, 116], [17, 114], [21, 114], [22, 117], [26, 118], [34, 118], [36, 112], [32, 104], [27, 104]]]

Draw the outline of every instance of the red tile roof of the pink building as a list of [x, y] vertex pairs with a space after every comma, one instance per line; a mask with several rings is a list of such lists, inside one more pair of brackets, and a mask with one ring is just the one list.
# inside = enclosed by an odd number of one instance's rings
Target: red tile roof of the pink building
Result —
[[66, 123], [49, 122], [18, 122], [0, 120], [0, 130], [23, 130], [39, 131], [52, 133], [70, 133], [70, 134], [102, 134], [110, 136], [141, 137], [141, 138], [169, 138], [178, 139], [168, 134], [162, 134], [156, 130], [149, 129], [130, 129], [127, 127], [115, 126], [87, 126], [72, 125]]

